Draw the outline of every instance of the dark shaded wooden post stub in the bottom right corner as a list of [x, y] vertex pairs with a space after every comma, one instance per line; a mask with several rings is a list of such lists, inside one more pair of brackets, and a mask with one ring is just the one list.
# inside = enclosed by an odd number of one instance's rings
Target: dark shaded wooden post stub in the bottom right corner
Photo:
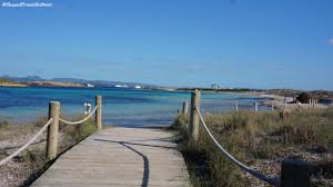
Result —
[[310, 187], [309, 163], [302, 160], [285, 159], [282, 161], [281, 168], [281, 187]]

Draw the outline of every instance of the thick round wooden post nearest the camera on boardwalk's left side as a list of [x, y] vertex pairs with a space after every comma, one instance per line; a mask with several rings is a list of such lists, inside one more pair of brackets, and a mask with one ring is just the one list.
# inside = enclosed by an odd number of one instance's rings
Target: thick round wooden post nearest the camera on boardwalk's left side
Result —
[[60, 102], [50, 101], [50, 104], [49, 104], [49, 119], [53, 118], [53, 120], [50, 124], [50, 126], [48, 127], [47, 158], [49, 160], [54, 159], [57, 157], [59, 115], [60, 115]]

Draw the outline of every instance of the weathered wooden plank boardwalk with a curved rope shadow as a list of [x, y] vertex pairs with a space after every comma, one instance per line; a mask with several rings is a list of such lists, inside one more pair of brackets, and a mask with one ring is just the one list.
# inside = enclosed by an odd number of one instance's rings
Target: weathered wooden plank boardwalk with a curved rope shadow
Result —
[[159, 129], [104, 129], [60, 156], [32, 186], [190, 186], [172, 136]]

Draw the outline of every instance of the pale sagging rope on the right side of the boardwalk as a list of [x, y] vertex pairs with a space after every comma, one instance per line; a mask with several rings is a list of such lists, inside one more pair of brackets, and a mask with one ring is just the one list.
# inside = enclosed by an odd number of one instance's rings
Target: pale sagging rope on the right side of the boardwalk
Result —
[[211, 131], [209, 130], [209, 128], [206, 127], [202, 116], [201, 116], [201, 112], [200, 112], [200, 109], [198, 107], [195, 107], [198, 114], [199, 114], [199, 117], [200, 117], [200, 120], [205, 129], [205, 131], [208, 132], [208, 135], [210, 136], [210, 138], [214, 141], [214, 145], [219, 148], [219, 150], [229, 159], [231, 160], [233, 164], [235, 164], [236, 166], [239, 166], [241, 169], [248, 171], [249, 174], [251, 174], [252, 176], [263, 180], [263, 181], [266, 181], [268, 184], [272, 185], [272, 186], [278, 186], [279, 185], [279, 181], [276, 178], [270, 178], [270, 177], [266, 177], [265, 175], [263, 174], [260, 174], [258, 173], [256, 170], [250, 168], [249, 166], [245, 166], [244, 164], [242, 164], [241, 161], [239, 161], [238, 159], [235, 159], [232, 155], [230, 155], [219, 142], [218, 140], [213, 137], [213, 135], [211, 134]]

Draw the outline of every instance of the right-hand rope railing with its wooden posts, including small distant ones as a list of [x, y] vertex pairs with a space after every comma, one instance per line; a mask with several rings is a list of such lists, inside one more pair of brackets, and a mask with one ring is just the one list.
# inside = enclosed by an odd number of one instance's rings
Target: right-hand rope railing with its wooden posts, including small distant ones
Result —
[[[191, 92], [191, 107], [189, 107], [190, 115], [188, 115], [186, 111], [188, 109], [186, 102], [183, 102], [182, 115], [184, 115], [186, 121], [189, 121], [186, 127], [193, 142], [198, 142], [199, 140], [199, 132], [201, 129], [200, 124], [202, 124], [205, 132], [208, 134], [210, 139], [212, 139], [212, 141], [214, 142], [214, 146], [218, 147], [219, 151], [229, 160], [231, 160], [234, 165], [236, 165], [240, 169], [246, 171], [253, 177], [262, 181], [265, 181], [272, 186], [294, 187], [294, 184], [296, 184], [297, 186], [310, 186], [311, 164], [307, 161], [297, 160], [297, 159], [283, 159], [281, 164], [281, 175], [278, 176], [276, 178], [271, 178], [254, 170], [253, 168], [250, 168], [249, 166], [244, 165], [243, 163], [234, 158], [219, 144], [219, 141], [214, 138], [214, 136], [208, 128], [200, 111], [200, 102], [201, 102], [200, 98], [201, 98], [201, 92], [198, 89]], [[239, 106], [238, 104], [239, 102], [236, 101], [235, 110], [238, 110], [238, 106]], [[254, 102], [254, 105], [255, 105], [255, 111], [258, 111], [258, 102]], [[272, 102], [272, 110], [273, 107], [274, 106]]]

